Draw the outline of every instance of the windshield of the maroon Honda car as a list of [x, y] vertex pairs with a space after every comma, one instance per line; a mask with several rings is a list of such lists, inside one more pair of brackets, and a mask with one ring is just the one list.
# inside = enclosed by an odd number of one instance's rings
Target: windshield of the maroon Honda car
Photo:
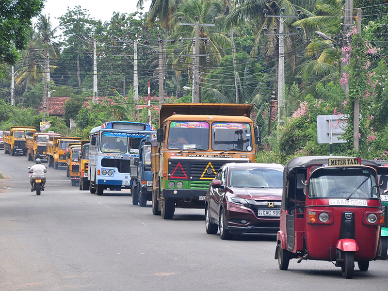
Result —
[[240, 168], [230, 171], [229, 186], [240, 188], [282, 188], [283, 171], [269, 168]]

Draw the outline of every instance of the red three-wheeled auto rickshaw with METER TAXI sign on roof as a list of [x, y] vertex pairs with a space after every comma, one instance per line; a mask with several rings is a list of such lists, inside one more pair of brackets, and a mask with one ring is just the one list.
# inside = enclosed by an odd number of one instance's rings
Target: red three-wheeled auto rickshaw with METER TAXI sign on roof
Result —
[[367, 271], [376, 259], [384, 224], [377, 164], [352, 157], [297, 157], [283, 172], [280, 230], [275, 259], [287, 270], [290, 259], [326, 260], [352, 278], [354, 262]]

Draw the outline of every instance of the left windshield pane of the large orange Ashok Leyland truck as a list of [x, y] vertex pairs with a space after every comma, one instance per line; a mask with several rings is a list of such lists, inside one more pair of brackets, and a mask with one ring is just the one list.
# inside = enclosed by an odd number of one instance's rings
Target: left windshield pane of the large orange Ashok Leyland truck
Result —
[[168, 130], [168, 149], [209, 149], [209, 123], [172, 121]]

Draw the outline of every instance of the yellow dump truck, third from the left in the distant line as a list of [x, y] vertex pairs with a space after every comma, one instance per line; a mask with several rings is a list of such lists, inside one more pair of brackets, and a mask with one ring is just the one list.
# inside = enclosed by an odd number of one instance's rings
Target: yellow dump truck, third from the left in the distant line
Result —
[[66, 151], [69, 144], [81, 144], [81, 137], [52, 136], [47, 141], [47, 162], [49, 167], [58, 169], [59, 166], [67, 166]]

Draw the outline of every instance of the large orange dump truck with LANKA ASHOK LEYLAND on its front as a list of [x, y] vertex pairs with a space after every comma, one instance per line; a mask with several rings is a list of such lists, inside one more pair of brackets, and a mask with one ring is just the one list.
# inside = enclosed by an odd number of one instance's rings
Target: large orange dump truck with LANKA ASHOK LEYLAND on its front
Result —
[[251, 104], [164, 103], [151, 141], [152, 213], [171, 219], [176, 207], [204, 208], [219, 168], [254, 162], [259, 130]]

